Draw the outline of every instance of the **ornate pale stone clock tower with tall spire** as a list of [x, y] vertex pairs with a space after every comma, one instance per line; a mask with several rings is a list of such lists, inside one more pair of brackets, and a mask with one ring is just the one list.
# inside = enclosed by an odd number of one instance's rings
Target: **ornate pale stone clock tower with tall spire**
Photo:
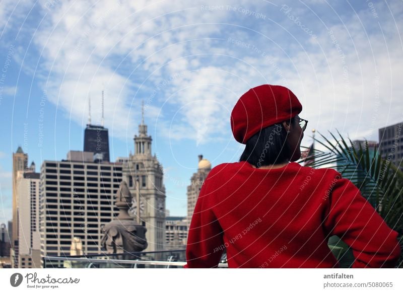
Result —
[[[144, 103], [139, 133], [135, 135], [135, 153], [123, 165], [123, 180], [126, 180], [131, 194], [132, 205], [129, 214], [138, 218], [147, 228], [148, 247], [145, 251], [163, 250], [165, 243], [165, 186], [163, 169], [156, 155], [152, 155], [152, 138], [147, 133], [144, 122]], [[140, 195], [140, 203], [136, 194]]]

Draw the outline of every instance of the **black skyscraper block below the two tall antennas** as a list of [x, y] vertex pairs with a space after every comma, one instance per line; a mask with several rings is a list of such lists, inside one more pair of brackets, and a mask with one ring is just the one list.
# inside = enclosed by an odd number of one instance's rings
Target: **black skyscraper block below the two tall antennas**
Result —
[[84, 152], [93, 152], [94, 159], [109, 162], [108, 128], [87, 124], [84, 131]]

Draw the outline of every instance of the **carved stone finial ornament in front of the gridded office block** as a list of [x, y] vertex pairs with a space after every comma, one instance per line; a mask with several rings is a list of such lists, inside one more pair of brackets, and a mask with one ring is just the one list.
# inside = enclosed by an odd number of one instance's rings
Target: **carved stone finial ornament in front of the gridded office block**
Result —
[[137, 252], [147, 248], [146, 227], [130, 217], [131, 193], [125, 181], [122, 181], [116, 192], [116, 207], [119, 214], [116, 219], [103, 228], [105, 235], [101, 245], [108, 253]]

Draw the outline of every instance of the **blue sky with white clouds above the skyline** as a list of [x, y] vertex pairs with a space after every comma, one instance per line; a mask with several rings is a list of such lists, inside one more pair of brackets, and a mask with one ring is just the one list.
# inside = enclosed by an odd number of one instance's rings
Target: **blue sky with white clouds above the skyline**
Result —
[[112, 159], [133, 150], [144, 100], [171, 215], [186, 213], [197, 155], [238, 160], [229, 117], [251, 87], [289, 87], [309, 129], [377, 140], [403, 120], [402, 11], [399, 1], [3, 0], [0, 222], [11, 219], [18, 145], [37, 168], [82, 150], [88, 97], [97, 122], [102, 90]]

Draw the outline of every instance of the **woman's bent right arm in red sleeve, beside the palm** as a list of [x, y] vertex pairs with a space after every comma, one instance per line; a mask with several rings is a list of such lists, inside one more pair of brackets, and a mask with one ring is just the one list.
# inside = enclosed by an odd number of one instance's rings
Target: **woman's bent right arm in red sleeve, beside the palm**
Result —
[[353, 249], [353, 268], [396, 265], [400, 255], [397, 232], [386, 225], [350, 180], [338, 179], [325, 200], [324, 226], [330, 235], [339, 236]]

